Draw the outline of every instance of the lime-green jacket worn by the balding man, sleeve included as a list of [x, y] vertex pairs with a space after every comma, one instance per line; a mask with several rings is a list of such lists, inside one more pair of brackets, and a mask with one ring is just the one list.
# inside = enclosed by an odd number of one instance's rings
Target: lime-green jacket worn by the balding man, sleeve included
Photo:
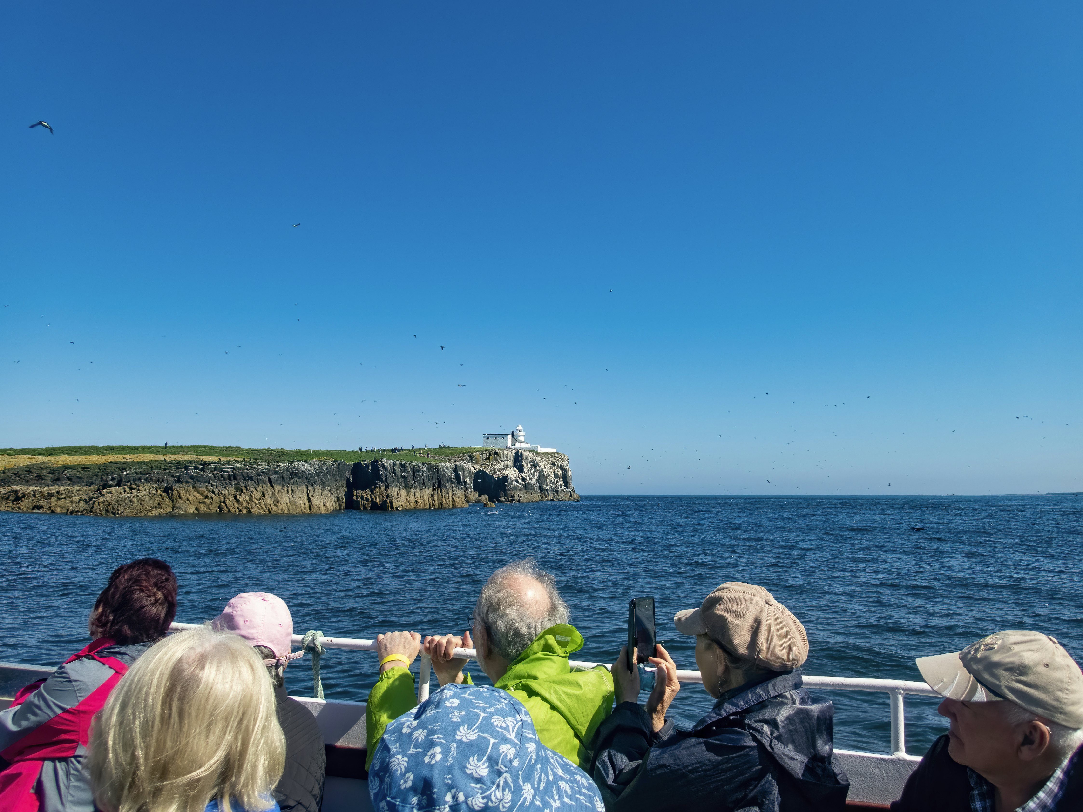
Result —
[[[552, 626], [534, 640], [496, 681], [526, 706], [538, 738], [573, 764], [589, 763], [587, 744], [613, 710], [613, 676], [605, 666], [572, 669], [567, 655], [583, 647], [583, 636], [565, 624]], [[467, 677], [469, 681], [469, 676]], [[414, 676], [389, 668], [368, 695], [365, 725], [366, 769], [383, 729], [417, 704]]]

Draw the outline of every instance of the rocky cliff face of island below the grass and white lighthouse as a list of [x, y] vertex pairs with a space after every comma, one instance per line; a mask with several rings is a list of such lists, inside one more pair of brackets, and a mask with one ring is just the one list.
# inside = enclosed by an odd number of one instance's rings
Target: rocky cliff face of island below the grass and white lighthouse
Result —
[[578, 498], [564, 455], [496, 449], [448, 461], [40, 462], [0, 471], [0, 510], [103, 516], [414, 510]]

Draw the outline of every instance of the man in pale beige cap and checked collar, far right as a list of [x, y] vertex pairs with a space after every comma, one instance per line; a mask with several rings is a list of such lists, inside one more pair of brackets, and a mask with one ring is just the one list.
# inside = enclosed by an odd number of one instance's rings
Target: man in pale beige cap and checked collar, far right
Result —
[[999, 631], [916, 663], [951, 726], [892, 810], [1083, 810], [1083, 672], [1056, 638]]

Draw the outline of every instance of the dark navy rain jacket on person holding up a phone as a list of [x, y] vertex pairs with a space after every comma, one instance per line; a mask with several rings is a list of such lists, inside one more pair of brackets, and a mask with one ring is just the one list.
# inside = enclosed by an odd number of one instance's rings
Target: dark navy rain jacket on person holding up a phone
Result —
[[611, 812], [843, 810], [850, 785], [834, 763], [833, 721], [798, 671], [728, 691], [691, 731], [667, 719], [654, 733], [626, 702], [598, 730], [591, 773]]

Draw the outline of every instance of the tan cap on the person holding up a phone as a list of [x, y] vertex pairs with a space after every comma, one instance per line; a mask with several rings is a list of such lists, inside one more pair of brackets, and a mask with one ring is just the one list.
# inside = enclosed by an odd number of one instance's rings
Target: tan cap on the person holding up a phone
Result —
[[808, 659], [801, 621], [762, 587], [728, 581], [697, 610], [674, 615], [681, 634], [706, 634], [723, 649], [772, 671], [797, 668]]

